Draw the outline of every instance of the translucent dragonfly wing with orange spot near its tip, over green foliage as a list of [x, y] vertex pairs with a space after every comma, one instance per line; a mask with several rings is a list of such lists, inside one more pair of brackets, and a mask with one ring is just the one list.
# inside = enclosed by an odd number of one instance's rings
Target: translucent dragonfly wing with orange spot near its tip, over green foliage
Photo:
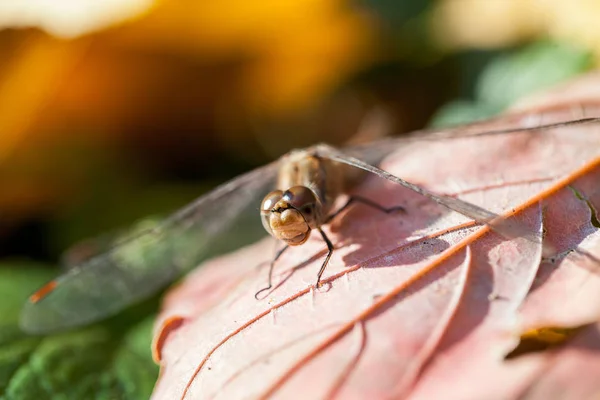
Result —
[[[277, 169], [277, 162], [255, 169], [162, 222], [137, 227], [137, 233], [34, 293], [23, 307], [21, 328], [44, 333], [105, 318], [150, 296], [211, 254], [264, 235], [258, 199], [272, 189]], [[236, 229], [228, 232], [233, 223]]]

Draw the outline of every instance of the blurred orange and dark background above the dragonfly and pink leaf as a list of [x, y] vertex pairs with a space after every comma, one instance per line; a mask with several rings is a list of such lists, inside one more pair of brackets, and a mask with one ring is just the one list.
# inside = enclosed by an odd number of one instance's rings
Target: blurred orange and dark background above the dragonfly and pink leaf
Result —
[[398, 135], [499, 113], [594, 68], [599, 16], [564, 0], [0, 0], [0, 258], [55, 263], [373, 115]]

